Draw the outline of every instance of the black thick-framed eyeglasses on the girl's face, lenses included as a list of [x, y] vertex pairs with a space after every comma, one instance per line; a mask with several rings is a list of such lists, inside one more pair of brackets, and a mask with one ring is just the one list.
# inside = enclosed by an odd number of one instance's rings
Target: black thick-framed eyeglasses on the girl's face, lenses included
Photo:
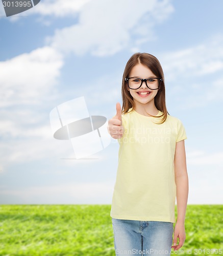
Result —
[[160, 87], [163, 78], [151, 77], [147, 79], [142, 79], [138, 77], [126, 77], [129, 89], [137, 90], [142, 86], [142, 83], [145, 82], [146, 86], [150, 90], [158, 90]]

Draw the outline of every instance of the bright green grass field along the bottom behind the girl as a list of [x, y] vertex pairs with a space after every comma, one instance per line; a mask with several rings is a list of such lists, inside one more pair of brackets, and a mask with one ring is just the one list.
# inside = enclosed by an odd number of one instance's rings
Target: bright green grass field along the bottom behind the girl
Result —
[[[0, 255], [115, 255], [110, 205], [1, 205]], [[172, 255], [223, 255], [223, 205], [188, 205]], [[214, 250], [215, 249], [215, 250]]]

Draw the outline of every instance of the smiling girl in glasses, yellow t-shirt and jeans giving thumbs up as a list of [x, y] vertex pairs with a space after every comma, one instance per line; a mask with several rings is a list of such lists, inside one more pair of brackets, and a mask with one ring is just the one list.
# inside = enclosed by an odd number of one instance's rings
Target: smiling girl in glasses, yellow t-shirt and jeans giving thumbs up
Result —
[[121, 93], [122, 111], [117, 103], [108, 122], [111, 137], [119, 142], [111, 207], [115, 252], [170, 255], [186, 238], [186, 132], [167, 112], [163, 70], [155, 56], [135, 53], [129, 59]]

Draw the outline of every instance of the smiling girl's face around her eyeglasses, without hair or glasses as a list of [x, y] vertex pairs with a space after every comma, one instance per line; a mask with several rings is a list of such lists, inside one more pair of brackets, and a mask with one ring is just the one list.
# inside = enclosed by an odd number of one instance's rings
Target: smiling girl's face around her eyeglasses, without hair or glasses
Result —
[[[156, 77], [156, 76], [152, 73], [152, 71], [149, 68], [139, 63], [132, 68], [129, 77], [147, 79], [147, 78]], [[157, 87], [158, 87], [158, 81], [155, 88]], [[158, 92], [158, 90], [148, 89], [145, 82], [143, 82], [141, 87], [137, 90], [132, 90], [132, 89], [129, 89], [128, 87], [128, 91], [132, 95], [136, 106], [141, 104], [147, 104], [148, 102], [154, 103], [154, 98]]]

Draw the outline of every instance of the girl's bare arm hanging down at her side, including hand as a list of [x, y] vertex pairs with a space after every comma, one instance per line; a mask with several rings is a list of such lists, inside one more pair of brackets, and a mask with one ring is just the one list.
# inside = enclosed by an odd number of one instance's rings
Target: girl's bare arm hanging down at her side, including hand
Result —
[[174, 244], [177, 244], [177, 238], [179, 238], [179, 244], [172, 246], [172, 248], [174, 248], [174, 250], [178, 250], [183, 246], [184, 241], [186, 239], [184, 222], [188, 199], [188, 175], [184, 140], [181, 140], [176, 143], [174, 166], [175, 182], [177, 186], [178, 217], [175, 225], [173, 242]]

